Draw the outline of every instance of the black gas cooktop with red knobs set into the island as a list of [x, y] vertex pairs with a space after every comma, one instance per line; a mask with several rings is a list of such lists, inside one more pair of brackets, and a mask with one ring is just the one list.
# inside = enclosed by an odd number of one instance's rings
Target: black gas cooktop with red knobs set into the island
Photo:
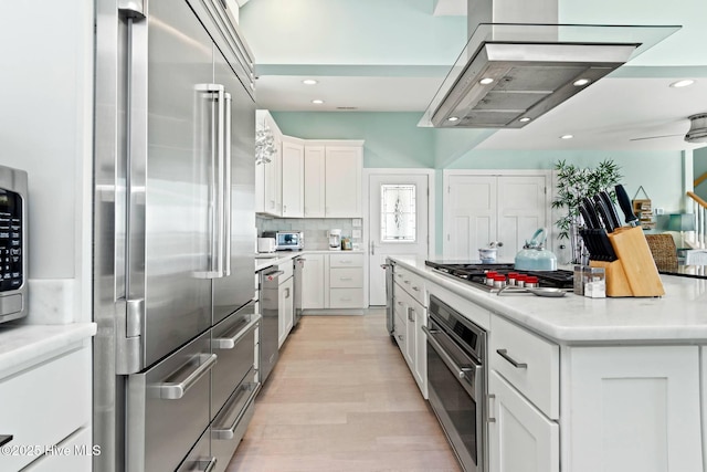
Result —
[[447, 261], [425, 261], [425, 265], [434, 271], [463, 280], [469, 285], [488, 292], [498, 291], [486, 285], [486, 272], [495, 271], [498, 274], [507, 275], [510, 272], [517, 272], [526, 275], [538, 277], [539, 286], [555, 287], [571, 291], [573, 286], [573, 273], [571, 271], [518, 271], [514, 269], [514, 264], [474, 264], [465, 262], [447, 262]]

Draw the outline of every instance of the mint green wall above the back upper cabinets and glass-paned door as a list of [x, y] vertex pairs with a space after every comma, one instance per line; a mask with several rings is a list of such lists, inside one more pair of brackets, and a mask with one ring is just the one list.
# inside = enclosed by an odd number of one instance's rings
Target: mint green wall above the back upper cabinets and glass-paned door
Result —
[[363, 167], [433, 168], [433, 129], [420, 113], [271, 112], [283, 134], [304, 139], [365, 139]]

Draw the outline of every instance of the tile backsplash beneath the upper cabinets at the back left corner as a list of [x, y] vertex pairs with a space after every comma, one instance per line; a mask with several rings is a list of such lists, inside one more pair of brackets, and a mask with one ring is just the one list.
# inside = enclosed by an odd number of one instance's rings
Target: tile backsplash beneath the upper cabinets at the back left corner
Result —
[[341, 238], [350, 238], [354, 248], [360, 247], [361, 238], [352, 238], [354, 231], [361, 233], [361, 227], [354, 227], [354, 222], [360, 218], [263, 218], [257, 217], [257, 235], [263, 231], [302, 231], [305, 234], [305, 249], [329, 249], [328, 231], [341, 230]]

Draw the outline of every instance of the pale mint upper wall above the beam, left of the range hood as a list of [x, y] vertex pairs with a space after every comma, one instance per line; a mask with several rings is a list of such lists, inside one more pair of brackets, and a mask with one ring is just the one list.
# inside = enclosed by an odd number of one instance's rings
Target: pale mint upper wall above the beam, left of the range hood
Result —
[[433, 17], [434, 0], [252, 0], [241, 28], [267, 64], [452, 64], [465, 17]]

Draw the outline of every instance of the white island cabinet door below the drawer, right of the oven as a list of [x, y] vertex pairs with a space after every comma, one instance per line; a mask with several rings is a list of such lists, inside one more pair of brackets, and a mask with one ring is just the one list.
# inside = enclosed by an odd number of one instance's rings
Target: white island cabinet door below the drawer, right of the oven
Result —
[[496, 371], [488, 375], [490, 472], [559, 472], [559, 424], [520, 396]]

